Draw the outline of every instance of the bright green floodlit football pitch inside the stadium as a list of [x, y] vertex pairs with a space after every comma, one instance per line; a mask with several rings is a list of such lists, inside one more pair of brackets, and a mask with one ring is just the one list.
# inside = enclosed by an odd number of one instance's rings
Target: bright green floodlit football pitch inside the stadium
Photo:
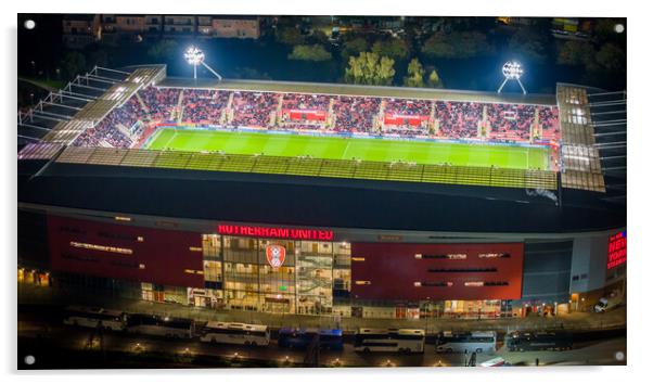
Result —
[[159, 129], [145, 145], [153, 150], [223, 151], [225, 153], [372, 162], [449, 163], [459, 166], [549, 169], [543, 148], [453, 144], [423, 141], [344, 139], [299, 135]]

